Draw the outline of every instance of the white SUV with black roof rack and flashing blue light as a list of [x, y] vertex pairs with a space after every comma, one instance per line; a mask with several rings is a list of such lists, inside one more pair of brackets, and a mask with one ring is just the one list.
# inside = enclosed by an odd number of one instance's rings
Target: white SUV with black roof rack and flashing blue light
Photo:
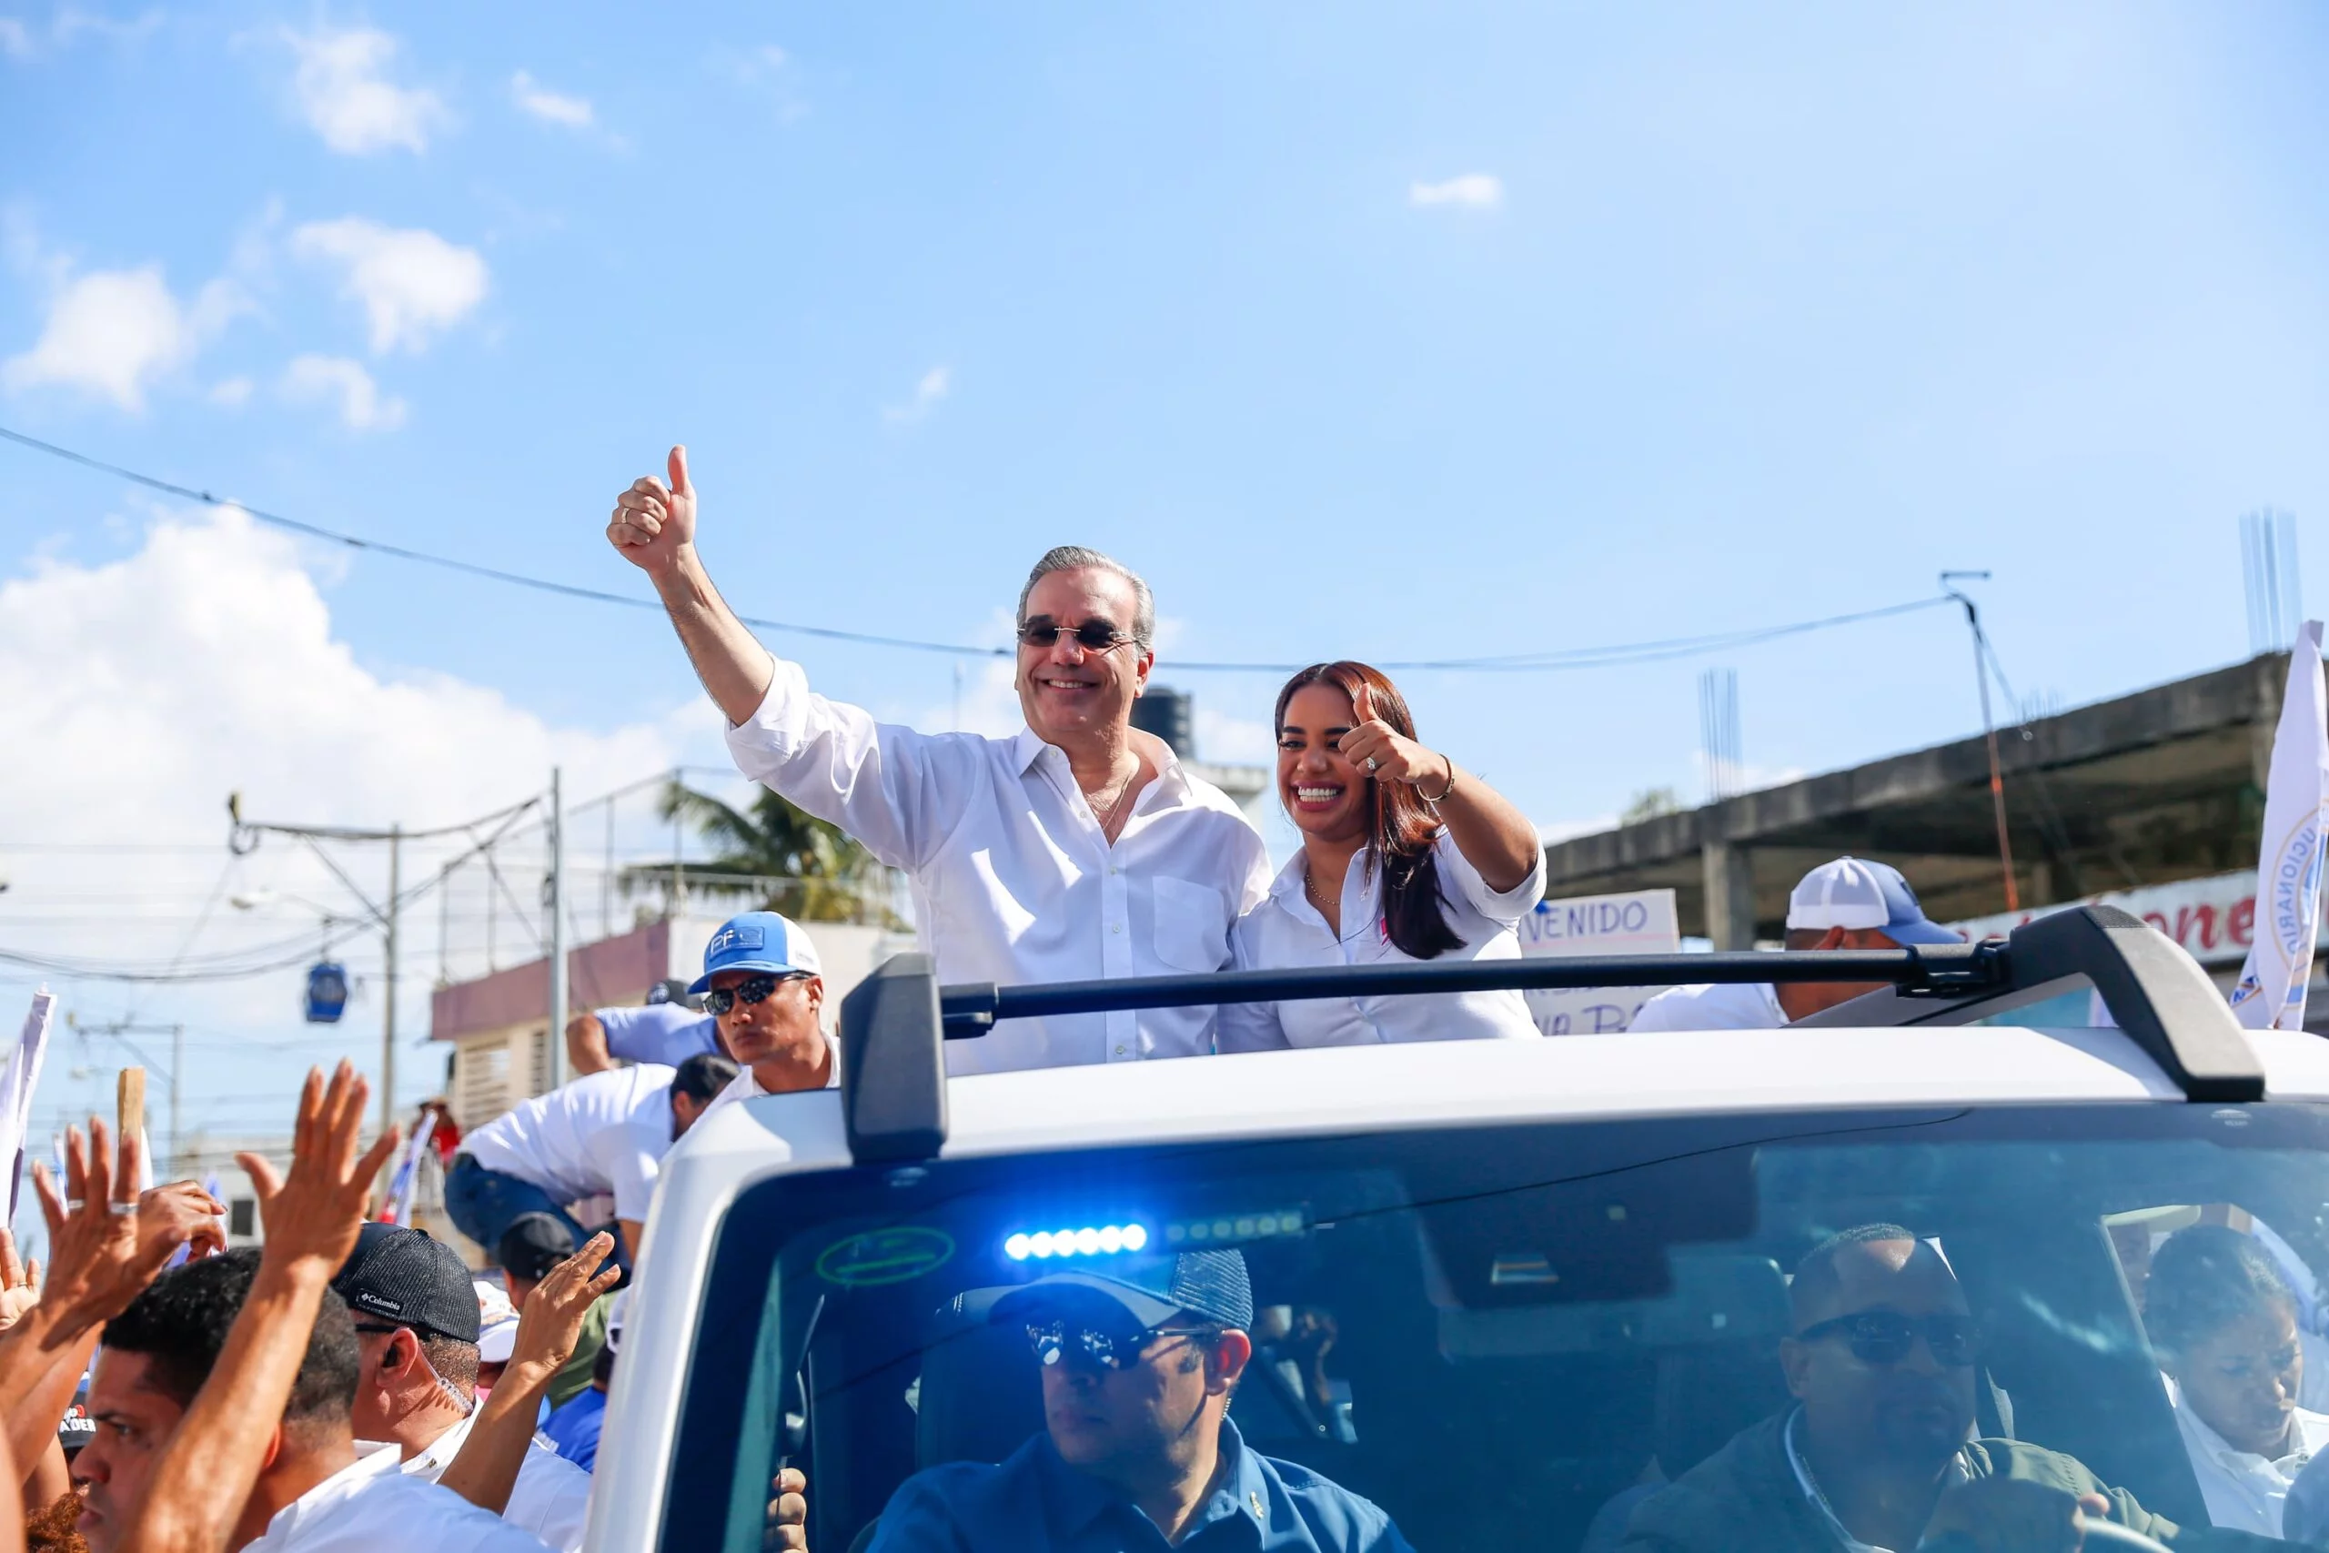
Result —
[[[1772, 1031], [941, 1076], [946, 1038], [1022, 1013], [1668, 980], [1891, 990]], [[2017, 1022], [2089, 987], [2115, 1029]], [[843, 1043], [841, 1092], [722, 1108], [664, 1166], [592, 1548], [757, 1551], [780, 1465], [810, 1476], [810, 1548], [862, 1546], [915, 1469], [1041, 1427], [1025, 1336], [964, 1316], [976, 1295], [1127, 1246], [1244, 1250], [1244, 1439], [1423, 1553], [1614, 1546], [1628, 1495], [1786, 1402], [1782, 1269], [1863, 1222], [1945, 1248], [1982, 1327], [1984, 1434], [2206, 1525], [2140, 1253], [2264, 1220], [2329, 1269], [2329, 1045], [2240, 1031], [2110, 908], [1961, 950], [1682, 966], [941, 994], [901, 957], [850, 994]]]

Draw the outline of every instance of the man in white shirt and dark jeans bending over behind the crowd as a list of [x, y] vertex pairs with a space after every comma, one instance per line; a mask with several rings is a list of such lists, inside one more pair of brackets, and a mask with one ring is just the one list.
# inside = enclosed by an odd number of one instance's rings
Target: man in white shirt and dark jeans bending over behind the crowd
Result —
[[589, 1234], [566, 1204], [613, 1194], [629, 1267], [661, 1157], [734, 1076], [727, 1057], [696, 1055], [678, 1069], [643, 1062], [536, 1094], [461, 1139], [445, 1213], [487, 1250], [524, 1213], [566, 1220], [580, 1246]]

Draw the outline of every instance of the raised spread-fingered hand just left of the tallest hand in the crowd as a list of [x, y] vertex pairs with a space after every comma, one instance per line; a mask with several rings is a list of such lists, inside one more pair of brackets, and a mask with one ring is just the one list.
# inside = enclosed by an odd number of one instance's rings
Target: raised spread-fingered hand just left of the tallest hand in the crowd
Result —
[[[112, 1148], [105, 1122], [65, 1129], [65, 1187], [58, 1192], [47, 1164], [33, 1166], [33, 1190], [49, 1220], [49, 1285], [56, 1325], [44, 1348], [56, 1348], [100, 1320], [112, 1320], [154, 1283], [179, 1246], [219, 1250], [219, 1213], [226, 1204], [191, 1180], [154, 1187], [130, 1204], [137, 1178], [137, 1146]], [[119, 1199], [119, 1201], [116, 1201]]]

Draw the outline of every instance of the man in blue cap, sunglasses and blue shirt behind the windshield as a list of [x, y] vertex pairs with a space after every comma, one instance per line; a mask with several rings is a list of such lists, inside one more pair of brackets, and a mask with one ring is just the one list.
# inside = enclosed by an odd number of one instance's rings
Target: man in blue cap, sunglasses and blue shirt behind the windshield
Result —
[[1043, 1432], [906, 1478], [869, 1553], [1411, 1553], [1381, 1509], [1237, 1437], [1253, 1290], [1234, 1250], [1095, 1260], [1011, 1290]]

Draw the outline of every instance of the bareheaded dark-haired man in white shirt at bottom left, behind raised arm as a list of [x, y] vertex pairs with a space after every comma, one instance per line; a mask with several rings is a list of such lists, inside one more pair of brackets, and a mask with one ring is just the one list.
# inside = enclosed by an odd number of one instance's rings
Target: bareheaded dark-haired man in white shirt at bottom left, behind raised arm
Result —
[[[105, 1325], [89, 1383], [98, 1432], [75, 1460], [75, 1476], [86, 1481], [79, 1530], [95, 1553], [126, 1553], [147, 1474], [219, 1362], [259, 1257], [228, 1250], [170, 1269]], [[543, 1553], [524, 1530], [403, 1476], [394, 1446], [359, 1453], [359, 1364], [347, 1304], [324, 1292], [275, 1444], [226, 1539], [228, 1553]]]

